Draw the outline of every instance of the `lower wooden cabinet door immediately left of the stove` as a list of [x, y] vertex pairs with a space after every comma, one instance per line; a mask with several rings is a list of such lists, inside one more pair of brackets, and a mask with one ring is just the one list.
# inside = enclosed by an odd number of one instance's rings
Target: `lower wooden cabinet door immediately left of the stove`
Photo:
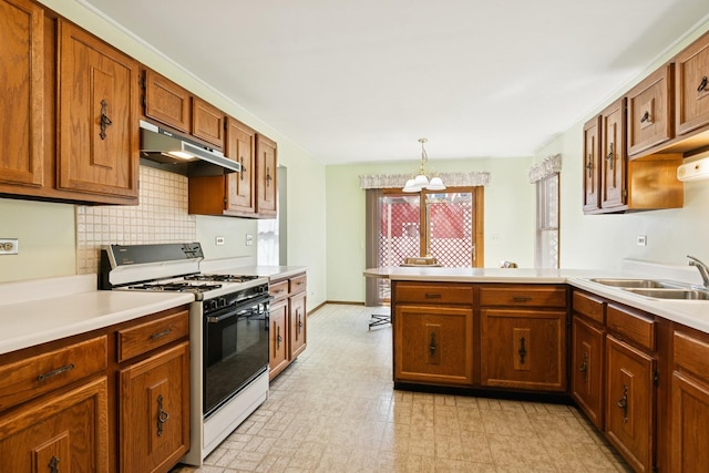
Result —
[[167, 471], [189, 449], [189, 343], [120, 371], [122, 472]]

